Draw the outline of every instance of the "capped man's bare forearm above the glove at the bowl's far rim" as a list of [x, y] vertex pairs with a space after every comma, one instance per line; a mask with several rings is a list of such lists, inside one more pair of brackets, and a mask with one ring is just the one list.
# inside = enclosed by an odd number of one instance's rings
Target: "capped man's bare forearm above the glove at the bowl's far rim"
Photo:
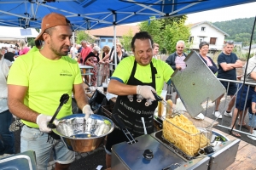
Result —
[[83, 109], [84, 105], [89, 105], [88, 97], [84, 92], [82, 83], [73, 85], [73, 96], [81, 110]]

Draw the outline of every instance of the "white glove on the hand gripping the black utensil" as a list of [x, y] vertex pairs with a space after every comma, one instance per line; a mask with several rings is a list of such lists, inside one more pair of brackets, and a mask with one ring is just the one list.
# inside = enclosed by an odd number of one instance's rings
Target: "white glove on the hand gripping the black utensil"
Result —
[[[50, 133], [51, 128], [47, 127], [48, 122], [51, 120], [52, 116], [46, 116], [43, 114], [38, 115], [37, 117], [37, 124], [39, 126], [39, 129], [43, 133]], [[54, 124], [57, 126], [59, 122], [55, 119]]]

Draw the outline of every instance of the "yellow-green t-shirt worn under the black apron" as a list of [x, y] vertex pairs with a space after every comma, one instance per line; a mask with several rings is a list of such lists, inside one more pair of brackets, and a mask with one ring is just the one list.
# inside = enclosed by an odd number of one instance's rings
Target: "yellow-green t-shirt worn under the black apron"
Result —
[[[119, 82], [127, 83], [130, 76], [131, 71], [134, 65], [134, 56], [126, 57], [122, 59], [117, 66], [116, 70], [113, 72], [111, 79], [118, 80]], [[168, 82], [174, 72], [170, 65], [166, 64], [166, 62], [160, 59], [152, 59], [152, 63], [157, 70], [157, 74], [155, 75], [155, 85], [157, 94], [161, 94], [162, 89], [164, 87], [164, 82]], [[137, 70], [135, 72], [134, 77], [140, 80], [141, 82], [149, 83], [152, 82], [151, 77], [151, 68], [150, 65], [139, 65], [137, 64]]]

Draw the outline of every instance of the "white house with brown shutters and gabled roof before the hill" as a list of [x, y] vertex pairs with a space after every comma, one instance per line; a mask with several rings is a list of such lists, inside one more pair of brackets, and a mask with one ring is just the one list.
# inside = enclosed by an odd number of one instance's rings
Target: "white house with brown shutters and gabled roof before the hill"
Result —
[[200, 42], [208, 42], [210, 51], [222, 50], [224, 38], [229, 36], [211, 22], [195, 23], [190, 28], [189, 48], [198, 51]]

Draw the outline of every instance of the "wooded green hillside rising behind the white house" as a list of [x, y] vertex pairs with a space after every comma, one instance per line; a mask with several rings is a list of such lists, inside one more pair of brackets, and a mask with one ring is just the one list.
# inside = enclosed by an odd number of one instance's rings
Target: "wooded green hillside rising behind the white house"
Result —
[[[213, 22], [214, 26], [217, 26], [222, 31], [227, 32], [230, 37], [226, 37], [226, 40], [233, 40], [235, 42], [242, 42], [242, 46], [247, 46], [249, 44], [251, 34], [253, 31], [254, 17], [227, 20], [221, 22]], [[253, 43], [256, 42], [256, 29], [253, 33]]]

